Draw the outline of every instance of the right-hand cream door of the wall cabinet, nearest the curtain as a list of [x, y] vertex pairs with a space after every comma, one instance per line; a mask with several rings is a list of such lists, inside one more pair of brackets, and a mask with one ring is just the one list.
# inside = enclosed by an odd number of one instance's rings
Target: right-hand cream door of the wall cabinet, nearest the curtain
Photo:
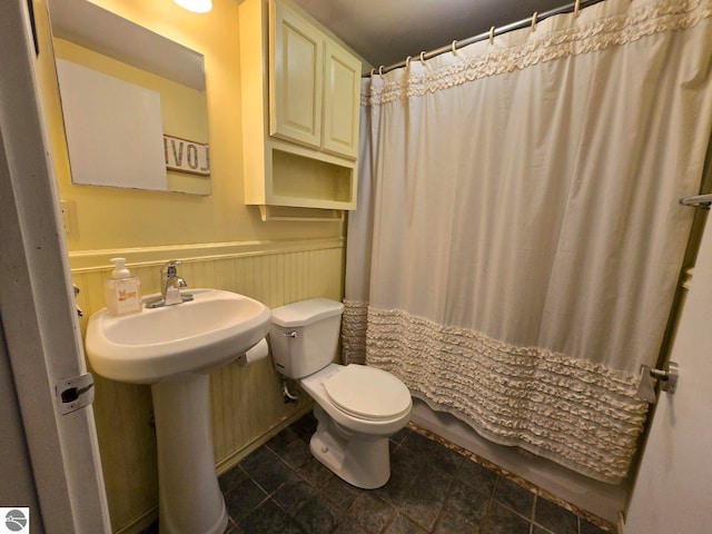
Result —
[[324, 140], [322, 149], [356, 159], [360, 108], [360, 61], [326, 41]]

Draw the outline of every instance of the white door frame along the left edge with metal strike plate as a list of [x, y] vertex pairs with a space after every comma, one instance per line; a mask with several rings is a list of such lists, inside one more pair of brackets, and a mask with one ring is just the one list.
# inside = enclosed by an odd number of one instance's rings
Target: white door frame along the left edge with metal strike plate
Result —
[[93, 411], [61, 415], [57, 402], [56, 384], [86, 365], [30, 7], [8, 0], [0, 17], [0, 322], [40, 508], [32, 532], [110, 532]]

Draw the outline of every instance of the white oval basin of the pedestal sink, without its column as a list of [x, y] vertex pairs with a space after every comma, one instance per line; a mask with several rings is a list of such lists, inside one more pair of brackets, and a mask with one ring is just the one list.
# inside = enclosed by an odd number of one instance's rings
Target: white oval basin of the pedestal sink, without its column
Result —
[[[264, 339], [271, 312], [264, 304], [219, 289], [190, 289], [191, 301], [89, 319], [87, 355], [107, 378], [154, 384], [186, 372], [209, 372]], [[148, 296], [149, 300], [155, 296]]]

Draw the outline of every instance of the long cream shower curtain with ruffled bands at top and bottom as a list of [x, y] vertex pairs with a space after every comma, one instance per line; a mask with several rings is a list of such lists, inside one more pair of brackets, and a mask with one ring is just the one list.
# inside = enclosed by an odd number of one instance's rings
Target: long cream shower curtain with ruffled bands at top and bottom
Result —
[[711, 13], [607, 0], [365, 80], [346, 363], [623, 479], [711, 134]]

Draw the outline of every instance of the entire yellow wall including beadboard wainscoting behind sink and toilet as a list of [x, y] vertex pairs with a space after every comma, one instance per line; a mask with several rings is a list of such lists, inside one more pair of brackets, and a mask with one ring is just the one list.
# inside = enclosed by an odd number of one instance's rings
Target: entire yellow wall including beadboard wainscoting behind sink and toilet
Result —
[[[95, 3], [205, 56], [211, 190], [208, 197], [71, 184], [57, 89], [47, 0], [34, 0], [40, 38], [38, 77], [60, 197], [77, 207], [78, 238], [69, 256], [87, 317], [103, 307], [108, 259], [126, 256], [144, 294], [159, 290], [159, 268], [184, 259], [192, 287], [248, 295], [270, 307], [310, 298], [340, 299], [344, 225], [260, 220], [243, 202], [238, 3], [214, 0], [206, 14], [169, 0]], [[309, 407], [283, 403], [270, 360], [229, 364], [211, 375], [216, 464], [228, 468]], [[156, 443], [147, 386], [97, 377], [95, 414], [113, 532], [140, 532], [157, 517]]]

